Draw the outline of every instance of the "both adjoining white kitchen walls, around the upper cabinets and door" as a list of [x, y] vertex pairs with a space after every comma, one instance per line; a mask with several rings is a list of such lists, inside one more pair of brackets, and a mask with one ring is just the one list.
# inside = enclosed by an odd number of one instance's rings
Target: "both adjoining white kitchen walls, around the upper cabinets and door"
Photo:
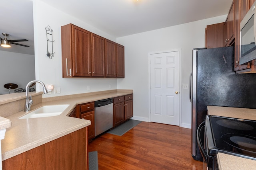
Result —
[[[138, 33], [130, 36], [113, 37], [100, 29], [92, 27], [56, 8], [44, 4], [40, 0], [33, 1], [34, 40], [36, 79], [45, 84], [54, 84], [61, 88], [60, 94], [43, 95], [44, 98], [78, 94], [111, 89], [134, 90], [134, 118], [143, 121], [149, 119], [149, 53], [182, 49], [182, 84], [189, 84], [189, 74], [192, 69], [192, 49], [204, 47], [204, 32], [206, 25], [224, 22], [225, 16], [200, 20], [154, 31]], [[89, 17], [89, 16], [88, 16]], [[106, 37], [125, 46], [125, 78], [62, 78], [61, 65], [61, 32], [60, 27], [73, 23], [88, 31]], [[52, 60], [46, 57], [46, 30], [50, 25], [53, 29]], [[111, 85], [111, 89], [109, 88]], [[87, 86], [91, 90], [87, 90]], [[37, 85], [37, 89], [42, 87]], [[189, 90], [182, 92], [182, 127], [191, 127], [191, 104]]]

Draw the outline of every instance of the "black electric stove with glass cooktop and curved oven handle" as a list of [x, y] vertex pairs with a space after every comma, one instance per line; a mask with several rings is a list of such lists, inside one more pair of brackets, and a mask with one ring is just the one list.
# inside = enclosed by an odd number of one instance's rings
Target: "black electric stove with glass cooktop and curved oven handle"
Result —
[[256, 160], [254, 120], [207, 115], [197, 133], [199, 149], [209, 169], [218, 169], [218, 152]]

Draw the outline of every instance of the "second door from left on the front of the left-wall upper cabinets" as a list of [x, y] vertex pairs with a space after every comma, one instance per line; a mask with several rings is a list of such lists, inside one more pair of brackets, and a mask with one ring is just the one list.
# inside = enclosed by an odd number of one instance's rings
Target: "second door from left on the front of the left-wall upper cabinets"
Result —
[[105, 39], [92, 33], [92, 76], [105, 76]]

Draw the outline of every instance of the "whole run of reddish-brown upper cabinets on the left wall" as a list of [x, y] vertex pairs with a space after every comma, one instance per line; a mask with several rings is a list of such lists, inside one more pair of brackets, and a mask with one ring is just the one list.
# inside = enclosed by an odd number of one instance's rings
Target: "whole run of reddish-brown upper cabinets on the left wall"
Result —
[[124, 78], [124, 46], [72, 23], [61, 27], [62, 77]]

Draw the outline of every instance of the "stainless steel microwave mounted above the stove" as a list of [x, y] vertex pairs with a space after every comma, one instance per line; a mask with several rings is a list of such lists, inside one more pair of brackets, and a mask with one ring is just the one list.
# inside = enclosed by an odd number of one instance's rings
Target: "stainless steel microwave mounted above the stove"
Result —
[[245, 64], [256, 59], [256, 10], [255, 4], [244, 16], [240, 23], [240, 60], [239, 64]]

